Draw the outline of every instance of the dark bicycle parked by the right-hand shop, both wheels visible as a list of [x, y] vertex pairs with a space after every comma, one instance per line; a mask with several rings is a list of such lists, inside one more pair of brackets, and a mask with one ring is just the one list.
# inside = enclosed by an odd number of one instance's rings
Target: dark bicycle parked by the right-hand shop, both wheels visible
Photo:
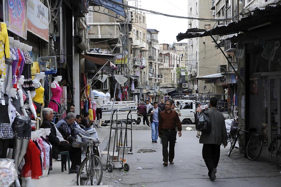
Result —
[[242, 124], [239, 124], [239, 125], [240, 125], [240, 127], [237, 130], [237, 132], [235, 133], [234, 138], [232, 140], [228, 141], [228, 142], [230, 142], [230, 149], [228, 152], [228, 156], [230, 156], [230, 154], [234, 148], [239, 149], [239, 147], [236, 147], [235, 144], [240, 137], [240, 131], [241, 131], [241, 132], [245, 132], [245, 133], [250, 133], [250, 135], [249, 135], [249, 140], [247, 142], [246, 148], [242, 142], [243, 148], [240, 148], [240, 149], [242, 149], [244, 152], [246, 152], [248, 159], [256, 160], [257, 158], [259, 158], [259, 155], [260, 155], [262, 147], [263, 147], [261, 135], [253, 134], [253, 132], [256, 131], [256, 129], [254, 129], [254, 128], [251, 128], [249, 131], [241, 130], [241, 127], [244, 125], [242, 125]]

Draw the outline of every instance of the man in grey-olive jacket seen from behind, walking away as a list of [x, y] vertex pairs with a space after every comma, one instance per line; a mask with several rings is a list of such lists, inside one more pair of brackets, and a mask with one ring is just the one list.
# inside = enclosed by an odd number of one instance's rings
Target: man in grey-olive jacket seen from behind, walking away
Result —
[[217, 166], [220, 156], [220, 145], [227, 146], [227, 134], [224, 122], [224, 115], [216, 108], [218, 100], [215, 97], [210, 99], [210, 109], [204, 111], [209, 115], [211, 121], [211, 133], [202, 132], [200, 144], [203, 144], [202, 156], [209, 170], [208, 175], [213, 181], [216, 178]]

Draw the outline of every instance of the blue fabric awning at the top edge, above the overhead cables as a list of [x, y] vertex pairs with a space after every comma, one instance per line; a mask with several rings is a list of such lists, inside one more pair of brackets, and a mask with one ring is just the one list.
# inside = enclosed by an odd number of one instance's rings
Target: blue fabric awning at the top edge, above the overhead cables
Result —
[[[114, 3], [116, 2], [116, 3]], [[125, 18], [125, 11], [124, 8], [121, 4], [123, 4], [123, 0], [110, 0], [110, 1], [105, 1], [105, 0], [89, 0], [89, 3], [93, 3], [95, 5], [108, 8], [109, 10], [112, 10], [113, 12], [117, 13], [118, 15], [122, 16]], [[118, 18], [119, 16], [116, 15]]]

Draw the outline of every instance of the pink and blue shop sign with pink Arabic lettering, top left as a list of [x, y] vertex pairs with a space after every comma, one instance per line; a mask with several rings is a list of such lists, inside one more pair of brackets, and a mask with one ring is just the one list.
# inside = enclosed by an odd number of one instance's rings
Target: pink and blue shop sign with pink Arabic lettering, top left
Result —
[[4, 22], [19, 37], [27, 37], [27, 0], [4, 0]]

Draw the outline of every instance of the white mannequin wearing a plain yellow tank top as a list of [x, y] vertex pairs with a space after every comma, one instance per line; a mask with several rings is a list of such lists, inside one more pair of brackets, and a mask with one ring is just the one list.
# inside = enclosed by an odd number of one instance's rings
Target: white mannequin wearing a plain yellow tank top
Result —
[[42, 87], [42, 84], [40, 83], [40, 80], [41, 79], [44, 80], [44, 77], [45, 77], [45, 73], [40, 72], [40, 73], [36, 73], [36, 75], [33, 79], [33, 85], [35, 88], [36, 95], [32, 100], [37, 107], [36, 113], [37, 113], [38, 117], [41, 117], [41, 108], [42, 108], [42, 104], [44, 103], [43, 97], [44, 97], [45, 89]]

